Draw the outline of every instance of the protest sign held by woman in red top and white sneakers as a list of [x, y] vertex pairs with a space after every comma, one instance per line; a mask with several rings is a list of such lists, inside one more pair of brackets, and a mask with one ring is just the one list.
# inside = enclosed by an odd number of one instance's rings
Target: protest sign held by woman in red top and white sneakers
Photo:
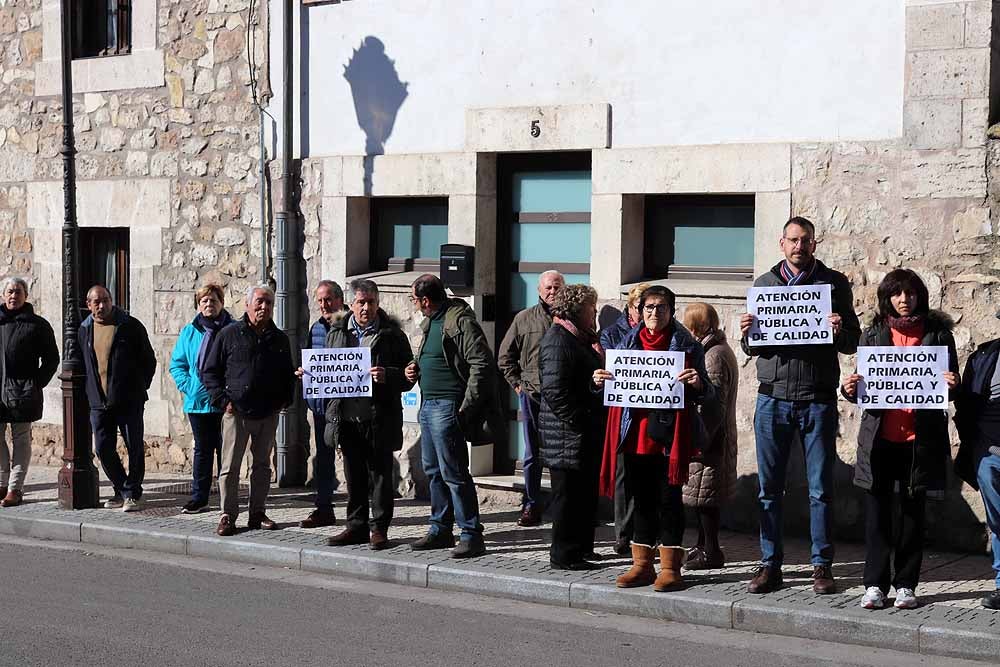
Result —
[[948, 348], [858, 348], [858, 405], [873, 410], [948, 408]]

